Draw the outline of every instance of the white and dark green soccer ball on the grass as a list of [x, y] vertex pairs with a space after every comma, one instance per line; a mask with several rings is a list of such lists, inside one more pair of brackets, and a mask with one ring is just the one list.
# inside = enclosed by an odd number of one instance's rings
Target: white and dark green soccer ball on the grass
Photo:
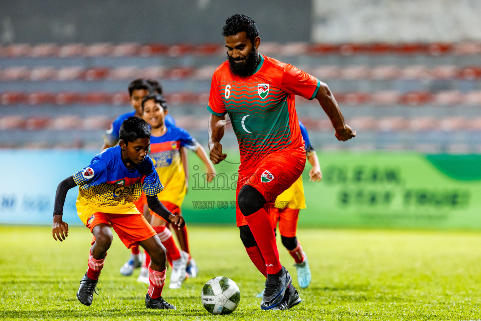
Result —
[[212, 314], [229, 314], [241, 302], [237, 284], [229, 278], [218, 276], [205, 283], [201, 293], [202, 305]]

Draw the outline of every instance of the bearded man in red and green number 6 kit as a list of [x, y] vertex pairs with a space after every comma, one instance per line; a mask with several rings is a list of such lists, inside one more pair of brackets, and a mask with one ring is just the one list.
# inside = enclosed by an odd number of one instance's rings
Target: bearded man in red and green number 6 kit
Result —
[[[227, 156], [222, 153], [220, 140], [226, 125], [225, 115], [229, 114], [241, 154], [237, 226], [249, 257], [266, 275], [261, 308], [290, 308], [299, 302], [299, 295], [289, 286], [291, 275], [279, 262], [269, 211], [277, 196], [304, 169], [304, 141], [294, 95], [319, 101], [336, 129], [338, 140], [346, 141], [355, 132], [344, 123], [326, 84], [291, 64], [258, 53], [259, 31], [251, 18], [234, 14], [226, 20], [222, 34], [228, 60], [217, 67], [212, 77], [207, 106], [211, 113], [210, 159], [218, 164]], [[288, 287], [291, 290], [286, 291]]]

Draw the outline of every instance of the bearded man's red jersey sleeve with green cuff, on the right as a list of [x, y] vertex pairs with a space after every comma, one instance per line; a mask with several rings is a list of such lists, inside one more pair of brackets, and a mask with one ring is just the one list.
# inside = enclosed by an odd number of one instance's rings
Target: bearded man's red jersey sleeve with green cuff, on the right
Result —
[[284, 73], [280, 80], [280, 87], [283, 91], [299, 95], [305, 99], [314, 99], [321, 82], [301, 69], [291, 64], [286, 64]]

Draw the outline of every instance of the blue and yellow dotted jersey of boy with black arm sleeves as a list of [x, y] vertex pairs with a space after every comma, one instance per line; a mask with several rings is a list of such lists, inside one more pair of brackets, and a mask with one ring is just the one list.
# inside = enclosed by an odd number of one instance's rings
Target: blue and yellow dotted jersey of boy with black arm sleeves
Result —
[[73, 177], [79, 185], [77, 201], [82, 205], [124, 205], [137, 201], [142, 190], [146, 195], [157, 195], [164, 189], [149, 156], [128, 169], [122, 161], [120, 146], [95, 155], [89, 166]]

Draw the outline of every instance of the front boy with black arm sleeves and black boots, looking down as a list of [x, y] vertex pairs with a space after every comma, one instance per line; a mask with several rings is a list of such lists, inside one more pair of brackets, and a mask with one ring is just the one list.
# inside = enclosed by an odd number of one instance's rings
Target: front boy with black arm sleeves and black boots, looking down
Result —
[[108, 148], [94, 156], [88, 167], [63, 180], [55, 196], [52, 236], [65, 239], [68, 225], [63, 222], [63, 204], [70, 188], [79, 185], [77, 213], [93, 234], [88, 270], [80, 281], [78, 300], [89, 306], [112, 244], [112, 231], [127, 246], [140, 244], [151, 256], [149, 291], [145, 297], [147, 308], [175, 309], [162, 298], [165, 283], [165, 248], [157, 233], [133, 204], [145, 193], [149, 207], [165, 220], [182, 228], [182, 216], [170, 213], [157, 198], [164, 188], [147, 155], [151, 130], [145, 120], [129, 117], [120, 127], [119, 146]]

